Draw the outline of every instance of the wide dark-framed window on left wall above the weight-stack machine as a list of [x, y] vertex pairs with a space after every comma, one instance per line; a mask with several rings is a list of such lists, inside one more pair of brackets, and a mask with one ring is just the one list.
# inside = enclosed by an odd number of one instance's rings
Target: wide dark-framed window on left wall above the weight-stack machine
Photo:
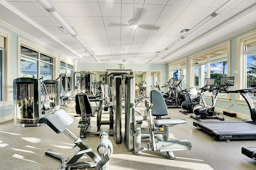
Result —
[[[38, 65], [40, 65], [38, 67]], [[20, 76], [34, 77], [43, 80], [53, 78], [53, 58], [27, 47], [20, 47]]]

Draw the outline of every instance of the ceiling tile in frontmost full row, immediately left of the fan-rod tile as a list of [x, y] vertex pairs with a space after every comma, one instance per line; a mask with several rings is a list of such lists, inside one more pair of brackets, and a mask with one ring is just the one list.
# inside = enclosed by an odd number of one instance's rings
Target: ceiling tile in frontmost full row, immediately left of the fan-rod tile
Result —
[[99, 3], [103, 17], [121, 17], [121, 4]]

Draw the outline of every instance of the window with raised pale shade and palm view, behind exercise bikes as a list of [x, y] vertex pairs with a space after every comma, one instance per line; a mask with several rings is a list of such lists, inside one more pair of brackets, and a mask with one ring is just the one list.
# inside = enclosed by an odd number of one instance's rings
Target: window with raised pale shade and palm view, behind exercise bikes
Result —
[[[207, 49], [198, 54], [191, 56], [191, 86], [194, 86], [197, 90], [204, 86], [206, 78], [216, 78], [216, 86], [220, 84], [221, 77], [228, 77], [228, 59], [230, 54], [230, 43], [222, 43], [216, 47]], [[206, 93], [212, 95], [212, 93]], [[219, 93], [218, 96], [227, 97], [226, 93]]]

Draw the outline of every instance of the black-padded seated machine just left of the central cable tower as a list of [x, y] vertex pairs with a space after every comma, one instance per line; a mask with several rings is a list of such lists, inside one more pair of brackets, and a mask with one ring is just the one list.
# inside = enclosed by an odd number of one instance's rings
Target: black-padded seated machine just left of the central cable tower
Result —
[[[85, 139], [86, 134], [100, 134], [101, 125], [110, 125], [109, 129], [113, 129], [113, 116], [110, 113], [109, 120], [101, 120], [103, 101], [99, 98], [90, 98], [85, 93], [76, 94], [76, 114], [81, 115], [78, 127], [80, 127], [80, 138]], [[92, 107], [90, 102], [99, 102], [98, 107]], [[91, 116], [97, 114], [97, 128], [90, 132]]]

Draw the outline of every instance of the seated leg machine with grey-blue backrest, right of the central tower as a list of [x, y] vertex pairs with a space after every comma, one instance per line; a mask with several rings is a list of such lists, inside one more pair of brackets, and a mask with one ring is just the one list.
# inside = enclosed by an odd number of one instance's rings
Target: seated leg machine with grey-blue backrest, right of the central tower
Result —
[[[175, 159], [176, 157], [172, 151], [191, 150], [192, 146], [188, 140], [170, 141], [169, 139], [169, 127], [186, 123], [186, 120], [161, 117], [168, 115], [168, 109], [160, 90], [152, 90], [150, 92], [150, 101], [145, 101], [146, 115], [144, 116], [148, 122], [147, 128], [141, 127], [144, 117], [134, 114], [134, 122], [136, 122], [134, 128], [136, 129], [132, 129], [134, 133], [133, 153], [139, 155], [143, 150], [160, 150], [160, 152], [166, 152], [166, 158]], [[153, 119], [152, 116], [156, 116], [156, 118]], [[141, 147], [142, 133], [149, 134], [150, 137], [150, 143], [148, 143], [147, 149]], [[161, 134], [162, 137], [160, 136]], [[158, 139], [158, 142], [155, 142], [155, 137]]]

